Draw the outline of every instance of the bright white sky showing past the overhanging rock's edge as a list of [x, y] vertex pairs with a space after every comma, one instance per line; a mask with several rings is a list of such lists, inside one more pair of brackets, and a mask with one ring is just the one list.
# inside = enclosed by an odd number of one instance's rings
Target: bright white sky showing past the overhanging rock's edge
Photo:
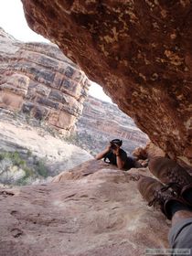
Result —
[[[0, 0], [0, 27], [23, 42], [49, 42], [48, 39], [38, 35], [27, 26], [20, 0]], [[95, 82], [91, 84], [90, 94], [101, 101], [112, 102], [110, 97], [102, 91], [101, 86]]]

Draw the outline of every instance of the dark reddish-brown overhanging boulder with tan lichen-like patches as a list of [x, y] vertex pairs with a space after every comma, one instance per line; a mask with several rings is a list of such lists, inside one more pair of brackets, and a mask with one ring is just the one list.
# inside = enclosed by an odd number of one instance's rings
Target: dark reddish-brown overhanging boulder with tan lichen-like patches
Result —
[[32, 29], [101, 84], [165, 153], [192, 165], [191, 1], [22, 2]]

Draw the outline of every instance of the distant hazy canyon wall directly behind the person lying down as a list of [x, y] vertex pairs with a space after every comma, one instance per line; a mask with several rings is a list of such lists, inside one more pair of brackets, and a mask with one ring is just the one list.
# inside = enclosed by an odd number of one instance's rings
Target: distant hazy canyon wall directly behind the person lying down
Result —
[[83, 104], [77, 123], [77, 138], [92, 154], [99, 153], [114, 138], [123, 140], [123, 149], [131, 154], [133, 149], [144, 146], [148, 137], [133, 123], [133, 119], [112, 103], [91, 96]]

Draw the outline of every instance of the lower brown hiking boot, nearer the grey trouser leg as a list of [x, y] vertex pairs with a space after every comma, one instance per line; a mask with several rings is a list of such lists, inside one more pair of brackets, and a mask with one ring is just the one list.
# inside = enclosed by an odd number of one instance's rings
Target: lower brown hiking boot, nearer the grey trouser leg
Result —
[[165, 214], [167, 219], [172, 218], [170, 205], [173, 202], [184, 203], [181, 199], [176, 198], [167, 187], [152, 177], [141, 176], [137, 187], [144, 199], [148, 202], [148, 206], [157, 206]]

